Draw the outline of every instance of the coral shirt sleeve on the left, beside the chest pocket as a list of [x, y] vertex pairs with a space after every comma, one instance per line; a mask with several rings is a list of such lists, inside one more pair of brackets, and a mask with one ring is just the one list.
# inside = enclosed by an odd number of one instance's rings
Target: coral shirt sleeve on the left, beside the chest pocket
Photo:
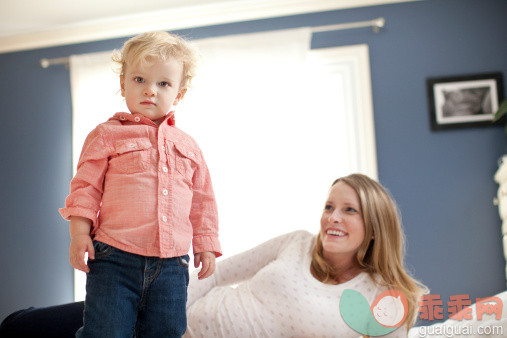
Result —
[[90, 219], [93, 226], [96, 225], [108, 167], [109, 148], [100, 127], [94, 129], [86, 138], [76, 175], [70, 183], [70, 194], [65, 200], [65, 208], [59, 210], [64, 219], [81, 216]]

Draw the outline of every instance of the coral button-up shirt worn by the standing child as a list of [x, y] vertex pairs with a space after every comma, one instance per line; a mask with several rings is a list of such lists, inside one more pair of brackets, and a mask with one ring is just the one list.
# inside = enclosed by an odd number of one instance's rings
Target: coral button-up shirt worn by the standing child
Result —
[[92, 220], [95, 240], [143, 256], [221, 255], [208, 168], [167, 118], [117, 113], [87, 137], [62, 217]]

